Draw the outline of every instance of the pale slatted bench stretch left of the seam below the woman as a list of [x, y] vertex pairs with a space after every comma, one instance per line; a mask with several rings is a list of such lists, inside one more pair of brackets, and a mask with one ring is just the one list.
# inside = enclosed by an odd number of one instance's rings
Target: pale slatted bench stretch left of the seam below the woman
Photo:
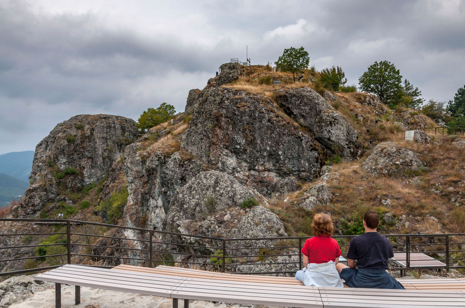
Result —
[[34, 279], [55, 283], [56, 308], [61, 307], [60, 286], [62, 283], [77, 286], [76, 304], [80, 303], [80, 287], [85, 286], [173, 298], [173, 308], [177, 308], [178, 299], [185, 300], [184, 307], [188, 307], [189, 300], [202, 300], [323, 308], [319, 290], [316, 287], [226, 280], [212, 281], [203, 278], [147, 274], [82, 265], [64, 265], [36, 275]]

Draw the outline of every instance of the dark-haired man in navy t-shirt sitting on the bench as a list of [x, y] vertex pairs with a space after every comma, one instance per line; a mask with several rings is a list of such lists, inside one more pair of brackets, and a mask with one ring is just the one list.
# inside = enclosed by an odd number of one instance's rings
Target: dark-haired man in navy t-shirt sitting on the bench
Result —
[[[352, 288], [405, 289], [389, 275], [387, 262], [394, 257], [391, 242], [377, 231], [379, 214], [368, 210], [363, 215], [365, 234], [352, 238], [347, 265], [336, 264], [341, 279]], [[357, 266], [355, 264], [357, 260]]]

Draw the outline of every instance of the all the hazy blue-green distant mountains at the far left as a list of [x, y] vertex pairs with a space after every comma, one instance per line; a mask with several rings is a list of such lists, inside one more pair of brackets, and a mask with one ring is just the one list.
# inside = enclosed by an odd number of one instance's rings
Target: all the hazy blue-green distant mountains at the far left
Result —
[[23, 195], [29, 187], [34, 151], [11, 152], [0, 155], [0, 206]]

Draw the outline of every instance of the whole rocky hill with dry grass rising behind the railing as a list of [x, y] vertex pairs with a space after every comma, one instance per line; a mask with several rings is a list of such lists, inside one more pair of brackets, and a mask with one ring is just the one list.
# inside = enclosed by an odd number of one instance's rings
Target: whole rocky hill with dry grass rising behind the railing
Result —
[[[376, 96], [324, 92], [311, 83], [272, 85], [240, 77], [241, 70], [221, 65], [203, 90], [189, 91], [173, 123], [138, 139], [132, 120], [113, 115], [58, 124], [36, 148], [33, 184], [13, 215], [64, 213], [211, 237], [283, 237], [311, 235], [317, 212], [332, 215], [336, 234], [357, 234], [361, 214], [374, 208], [384, 233], [465, 232], [463, 139], [404, 141]], [[196, 244], [173, 235], [160, 240]], [[139, 256], [104, 247], [92, 252]]]

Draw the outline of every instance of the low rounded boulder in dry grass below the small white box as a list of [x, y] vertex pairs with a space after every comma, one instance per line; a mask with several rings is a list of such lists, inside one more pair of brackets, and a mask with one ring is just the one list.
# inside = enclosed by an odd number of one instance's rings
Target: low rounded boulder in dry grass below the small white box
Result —
[[425, 167], [420, 155], [392, 142], [383, 142], [363, 163], [363, 170], [373, 174], [395, 175]]

